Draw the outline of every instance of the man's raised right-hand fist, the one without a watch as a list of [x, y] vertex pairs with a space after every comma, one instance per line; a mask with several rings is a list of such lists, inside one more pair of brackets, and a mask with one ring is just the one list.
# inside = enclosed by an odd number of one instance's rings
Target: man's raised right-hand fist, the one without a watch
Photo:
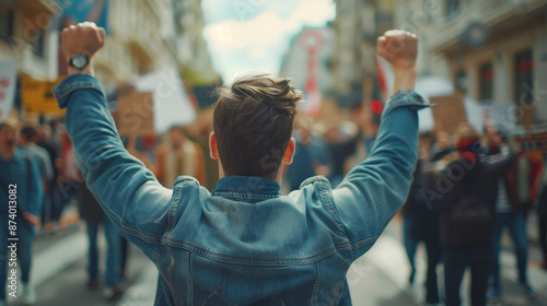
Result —
[[418, 51], [415, 34], [401, 30], [384, 33], [376, 40], [376, 52], [395, 68], [414, 68]]

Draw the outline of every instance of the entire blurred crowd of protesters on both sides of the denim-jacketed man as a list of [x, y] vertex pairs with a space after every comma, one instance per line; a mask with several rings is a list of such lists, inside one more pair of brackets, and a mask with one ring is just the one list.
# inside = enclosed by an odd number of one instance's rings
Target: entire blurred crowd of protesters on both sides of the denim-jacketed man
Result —
[[[363, 158], [374, 144], [374, 136], [362, 132], [344, 134], [341, 126], [323, 129], [323, 133], [315, 132], [312, 119], [302, 117], [294, 125], [296, 150], [293, 163], [286, 172], [286, 192], [298, 190], [304, 180], [316, 175], [326, 176], [331, 183], [339, 181], [345, 174], [345, 164], [356, 155], [356, 160]], [[108, 299], [119, 297], [124, 292], [121, 282], [127, 240], [117, 233], [82, 180], [63, 123], [53, 120], [42, 126], [24, 125], [20, 129], [16, 122], [9, 120], [1, 125], [0, 133], [0, 149], [5, 152], [3, 160], [10, 152], [15, 156], [11, 164], [2, 163], [5, 170], [2, 170], [1, 183], [9, 180], [11, 184], [12, 174], [21, 172], [18, 177], [25, 180], [18, 186], [27, 188], [23, 192], [34, 199], [27, 203], [34, 205], [30, 211], [35, 214], [18, 216], [22, 224], [20, 235], [26, 237], [22, 239], [25, 245], [21, 246], [20, 256], [24, 262], [25, 301], [35, 302], [35, 290], [30, 282], [32, 244], [36, 233], [32, 226], [42, 227], [42, 233], [66, 226], [61, 219], [62, 209], [71, 197], [78, 200], [80, 217], [85, 222], [89, 236], [88, 286], [96, 289], [100, 284], [96, 240], [101, 225], [107, 243], [104, 295]], [[155, 138], [130, 137], [126, 138], [126, 146], [164, 186], [173, 186], [178, 175], [194, 176], [206, 185], [205, 161], [208, 156], [197, 142], [189, 139], [186, 129], [174, 126], [165, 139], [158, 144]], [[514, 143], [508, 144], [507, 136], [491, 125], [485, 128], [484, 136], [466, 123], [462, 123], [454, 136], [445, 132], [422, 132], [419, 136], [419, 161], [401, 213], [404, 246], [411, 267], [409, 283], [414, 283], [416, 275], [415, 255], [419, 243], [426, 247], [427, 303], [443, 301], [437, 274], [441, 263], [444, 266], [446, 305], [459, 305], [459, 284], [466, 267], [472, 269], [474, 305], [485, 303], [482, 299], [489, 286], [490, 302], [499, 301], [502, 295], [499, 254], [504, 228], [509, 231], [514, 248], [519, 285], [526, 296], [534, 296], [526, 276], [526, 215], [531, 210], [537, 210], [540, 246], [544, 258], [547, 258], [547, 172], [542, 170], [540, 162], [528, 158], [515, 148]], [[36, 184], [28, 184], [34, 180]], [[545, 259], [543, 268], [547, 268]]]

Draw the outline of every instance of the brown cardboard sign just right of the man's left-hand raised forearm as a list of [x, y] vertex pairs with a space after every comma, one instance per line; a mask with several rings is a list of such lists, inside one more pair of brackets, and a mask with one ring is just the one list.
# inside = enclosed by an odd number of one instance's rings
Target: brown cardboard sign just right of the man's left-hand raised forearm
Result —
[[154, 134], [152, 93], [125, 92], [118, 96], [113, 117], [123, 136]]

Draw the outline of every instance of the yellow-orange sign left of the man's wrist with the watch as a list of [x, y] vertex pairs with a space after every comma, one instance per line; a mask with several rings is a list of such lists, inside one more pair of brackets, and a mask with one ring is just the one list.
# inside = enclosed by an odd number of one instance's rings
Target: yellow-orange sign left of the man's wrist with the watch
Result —
[[57, 99], [54, 96], [54, 87], [57, 86], [62, 79], [65, 79], [65, 76], [58, 78], [55, 81], [38, 81], [21, 74], [21, 97], [23, 101], [23, 108], [26, 113], [38, 115], [63, 115], [66, 110], [59, 108]]

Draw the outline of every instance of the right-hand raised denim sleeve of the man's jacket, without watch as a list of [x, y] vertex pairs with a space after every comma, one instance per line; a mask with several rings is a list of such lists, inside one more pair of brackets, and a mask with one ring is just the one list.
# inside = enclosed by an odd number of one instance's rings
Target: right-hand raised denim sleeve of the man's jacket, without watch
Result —
[[371, 153], [333, 190], [354, 258], [374, 244], [406, 200], [418, 154], [417, 110], [426, 106], [414, 91], [394, 95]]

